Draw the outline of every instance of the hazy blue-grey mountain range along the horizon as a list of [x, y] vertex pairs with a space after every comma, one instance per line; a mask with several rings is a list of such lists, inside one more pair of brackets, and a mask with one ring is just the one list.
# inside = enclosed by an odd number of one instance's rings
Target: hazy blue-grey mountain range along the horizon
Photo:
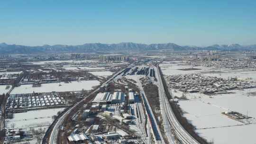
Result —
[[180, 46], [174, 43], [166, 44], [101, 44], [91, 43], [84, 45], [8, 45], [0, 43], [0, 54], [39, 54], [39, 53], [88, 53], [88, 52], [121, 52], [121, 51], [147, 51], [147, 50], [172, 50], [172, 51], [194, 51], [194, 50], [256, 50], [256, 45], [211, 45], [211, 46]]

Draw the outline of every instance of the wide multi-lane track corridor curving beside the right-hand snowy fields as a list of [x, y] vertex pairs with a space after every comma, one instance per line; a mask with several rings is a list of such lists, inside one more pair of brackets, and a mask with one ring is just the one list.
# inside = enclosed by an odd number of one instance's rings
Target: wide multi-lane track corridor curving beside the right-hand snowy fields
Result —
[[[161, 103], [161, 113], [164, 120], [164, 126], [166, 131], [166, 137], [170, 144], [175, 144], [174, 135], [177, 136], [179, 141], [182, 144], [200, 144], [197, 142], [179, 123], [176, 119], [174, 112], [170, 106], [170, 103], [165, 94], [165, 88], [163, 81], [161, 79], [161, 75], [159, 72], [159, 66], [157, 64], [157, 80], [158, 80], [158, 87], [159, 87], [159, 99]], [[174, 130], [174, 134], [171, 130]]]

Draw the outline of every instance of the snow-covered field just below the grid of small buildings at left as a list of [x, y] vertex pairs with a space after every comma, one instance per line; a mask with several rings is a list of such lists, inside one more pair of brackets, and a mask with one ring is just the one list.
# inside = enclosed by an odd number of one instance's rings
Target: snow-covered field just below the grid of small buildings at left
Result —
[[27, 128], [49, 126], [53, 122], [53, 116], [64, 108], [42, 109], [15, 113], [12, 119], [6, 119], [7, 128]]

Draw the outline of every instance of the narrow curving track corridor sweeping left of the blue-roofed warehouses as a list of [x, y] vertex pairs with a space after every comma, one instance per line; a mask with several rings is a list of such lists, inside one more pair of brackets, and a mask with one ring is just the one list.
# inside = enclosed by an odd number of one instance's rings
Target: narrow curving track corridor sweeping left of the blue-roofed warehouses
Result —
[[[101, 86], [105, 86], [107, 83], [109, 83], [111, 80], [113, 80], [116, 76], [118, 76], [119, 74], [121, 74], [125, 69], [122, 69], [121, 71], [117, 72], [116, 74], [114, 74], [109, 80], [105, 81], [104, 83], [101, 84]], [[98, 91], [98, 89], [94, 90], [92, 93]], [[91, 93], [91, 94], [92, 94]], [[90, 94], [90, 95], [91, 95]], [[90, 96], [89, 95], [89, 96]], [[87, 97], [89, 97], [87, 96]], [[70, 107], [68, 110], [66, 110], [64, 113], [62, 113], [61, 117], [59, 117], [57, 119], [57, 121], [54, 123], [54, 125], [52, 126], [52, 130], [50, 132], [50, 135], [46, 135], [43, 138], [42, 144], [57, 144], [57, 136], [58, 136], [58, 131], [60, 126], [63, 124], [63, 121], [65, 119], [65, 117], [73, 110], [75, 109], [77, 106], [79, 106], [79, 104], [83, 103], [84, 100], [87, 99], [87, 97], [85, 97], [84, 99], [80, 100], [79, 102], [77, 102], [76, 104], [74, 104], [72, 107]], [[51, 127], [49, 127], [51, 128]], [[46, 140], [46, 137], [49, 137], [48, 140]]]

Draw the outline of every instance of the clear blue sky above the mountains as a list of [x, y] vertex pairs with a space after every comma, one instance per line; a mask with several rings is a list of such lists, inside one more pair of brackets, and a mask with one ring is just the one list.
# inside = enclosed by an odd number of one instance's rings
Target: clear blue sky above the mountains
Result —
[[256, 44], [256, 0], [0, 0], [0, 42]]

